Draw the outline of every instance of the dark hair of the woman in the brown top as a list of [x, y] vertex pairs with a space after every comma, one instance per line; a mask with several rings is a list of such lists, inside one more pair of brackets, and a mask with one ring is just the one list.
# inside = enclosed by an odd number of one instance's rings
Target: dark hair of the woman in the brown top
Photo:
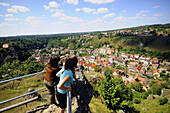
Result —
[[50, 68], [59, 68], [58, 66], [58, 62], [60, 61], [60, 57], [59, 56], [52, 56], [48, 62]]

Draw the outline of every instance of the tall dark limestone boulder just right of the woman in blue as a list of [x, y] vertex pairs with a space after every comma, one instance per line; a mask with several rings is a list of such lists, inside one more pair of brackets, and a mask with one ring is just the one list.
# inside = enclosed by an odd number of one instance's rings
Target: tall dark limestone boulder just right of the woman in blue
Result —
[[74, 82], [71, 84], [71, 96], [75, 99], [75, 102], [72, 103], [74, 108], [76, 108], [75, 113], [88, 113], [90, 112], [88, 104], [93, 96], [93, 87], [82, 70], [76, 71], [75, 76]]

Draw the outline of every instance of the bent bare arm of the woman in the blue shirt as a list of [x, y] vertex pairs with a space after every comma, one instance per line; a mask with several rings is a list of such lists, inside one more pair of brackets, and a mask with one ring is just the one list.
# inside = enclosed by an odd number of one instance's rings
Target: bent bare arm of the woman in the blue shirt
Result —
[[63, 80], [58, 84], [58, 88], [61, 89], [61, 90], [71, 90], [71, 87], [68, 86], [68, 87], [64, 87], [64, 84], [70, 79], [71, 77], [70, 76], [65, 76], [63, 78]]

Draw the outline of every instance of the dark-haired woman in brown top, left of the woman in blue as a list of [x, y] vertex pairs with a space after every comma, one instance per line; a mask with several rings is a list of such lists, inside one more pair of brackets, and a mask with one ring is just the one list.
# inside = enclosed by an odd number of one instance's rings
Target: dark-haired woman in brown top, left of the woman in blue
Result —
[[59, 56], [53, 56], [49, 59], [46, 69], [46, 75], [44, 78], [44, 84], [47, 87], [50, 94], [50, 104], [56, 104], [55, 101], [55, 86], [59, 82], [59, 78], [56, 73], [60, 70], [58, 62], [60, 61]]

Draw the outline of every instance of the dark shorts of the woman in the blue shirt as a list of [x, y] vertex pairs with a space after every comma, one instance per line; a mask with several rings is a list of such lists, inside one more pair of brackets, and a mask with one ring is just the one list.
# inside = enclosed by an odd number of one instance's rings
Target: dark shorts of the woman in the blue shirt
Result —
[[61, 109], [65, 109], [67, 106], [67, 93], [61, 94], [56, 89], [56, 96]]

